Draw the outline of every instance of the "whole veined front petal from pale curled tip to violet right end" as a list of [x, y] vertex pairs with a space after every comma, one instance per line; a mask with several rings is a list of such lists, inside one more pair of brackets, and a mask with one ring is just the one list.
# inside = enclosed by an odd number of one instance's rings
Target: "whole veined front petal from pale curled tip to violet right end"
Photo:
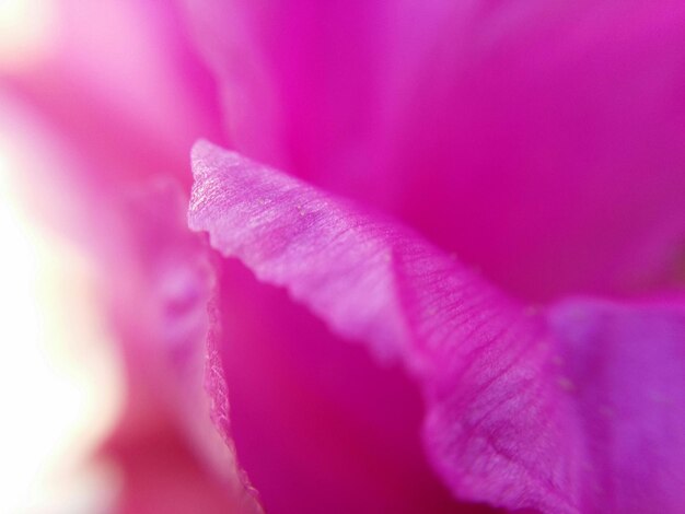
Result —
[[297, 179], [204, 142], [194, 172], [194, 230], [335, 331], [403, 360], [426, 397], [431, 462], [458, 498], [678, 512], [682, 302], [570, 303], [547, 327], [411, 233]]

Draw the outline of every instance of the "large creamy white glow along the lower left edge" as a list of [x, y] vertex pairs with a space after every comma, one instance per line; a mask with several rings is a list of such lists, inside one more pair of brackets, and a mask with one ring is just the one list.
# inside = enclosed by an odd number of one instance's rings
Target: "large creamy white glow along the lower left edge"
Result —
[[0, 512], [106, 512], [116, 480], [89, 456], [120, 406], [119, 365], [88, 260], [30, 221], [12, 186], [31, 163], [2, 136]]

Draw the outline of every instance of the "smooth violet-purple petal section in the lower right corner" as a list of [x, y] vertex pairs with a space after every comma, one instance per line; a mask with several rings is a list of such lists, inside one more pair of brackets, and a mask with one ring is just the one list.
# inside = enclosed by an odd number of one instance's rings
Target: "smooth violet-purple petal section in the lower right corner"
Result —
[[569, 300], [549, 319], [585, 436], [584, 512], [682, 512], [685, 297]]

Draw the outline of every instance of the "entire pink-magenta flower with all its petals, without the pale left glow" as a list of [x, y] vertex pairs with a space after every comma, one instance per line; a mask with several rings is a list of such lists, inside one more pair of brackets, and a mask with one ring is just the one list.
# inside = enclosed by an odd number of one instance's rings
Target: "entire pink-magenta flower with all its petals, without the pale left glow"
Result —
[[681, 512], [685, 3], [181, 3], [8, 79], [80, 155], [121, 510]]

